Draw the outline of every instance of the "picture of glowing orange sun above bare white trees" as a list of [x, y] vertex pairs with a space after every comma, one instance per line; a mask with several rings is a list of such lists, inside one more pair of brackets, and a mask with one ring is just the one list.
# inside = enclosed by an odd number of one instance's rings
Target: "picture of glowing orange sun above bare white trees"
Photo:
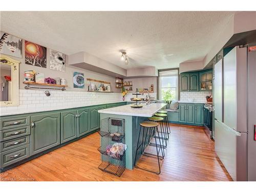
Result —
[[25, 63], [46, 68], [46, 48], [25, 40]]

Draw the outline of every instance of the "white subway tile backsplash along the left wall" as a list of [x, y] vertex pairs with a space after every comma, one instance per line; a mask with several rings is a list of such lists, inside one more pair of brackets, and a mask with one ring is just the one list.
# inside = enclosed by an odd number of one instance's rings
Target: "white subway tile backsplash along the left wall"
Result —
[[1, 107], [1, 115], [68, 109], [122, 101], [121, 93], [75, 91], [50, 91], [50, 93], [51, 96], [47, 97], [45, 90], [19, 90], [19, 106]]

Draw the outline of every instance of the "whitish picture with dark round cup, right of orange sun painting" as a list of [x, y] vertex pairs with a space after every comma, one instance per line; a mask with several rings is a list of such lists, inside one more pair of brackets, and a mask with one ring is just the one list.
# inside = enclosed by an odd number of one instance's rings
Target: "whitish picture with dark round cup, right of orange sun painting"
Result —
[[50, 49], [50, 69], [65, 72], [66, 55]]

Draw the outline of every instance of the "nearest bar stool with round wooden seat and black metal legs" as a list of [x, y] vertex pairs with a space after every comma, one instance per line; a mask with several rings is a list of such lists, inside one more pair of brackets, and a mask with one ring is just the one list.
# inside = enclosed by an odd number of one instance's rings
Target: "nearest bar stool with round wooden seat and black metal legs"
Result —
[[[159, 159], [162, 158], [163, 159], [163, 151], [162, 151], [162, 145], [161, 145], [161, 141], [160, 141], [160, 137], [159, 137], [159, 132], [158, 132], [158, 125], [159, 123], [157, 122], [154, 122], [154, 121], [143, 121], [140, 123], [140, 132], [139, 132], [139, 137], [138, 137], [138, 142], [137, 142], [137, 147], [136, 147], [136, 154], [135, 154], [135, 159], [134, 159], [134, 167], [135, 168], [139, 168], [139, 169], [142, 169], [142, 170], [146, 170], [147, 172], [151, 172], [151, 173], [155, 173], [155, 174], [160, 174], [161, 173], [161, 168], [160, 168], [160, 161]], [[139, 144], [140, 142], [140, 133], [141, 133], [141, 129], [143, 129], [143, 135], [142, 135], [142, 142]], [[156, 133], [158, 134], [158, 138], [159, 138], [159, 142], [160, 142], [160, 145], [156, 145], [156, 152], [157, 152], [157, 155], [155, 154], [150, 154], [150, 153], [145, 153], [143, 151], [143, 140], [144, 140], [144, 129], [153, 129], [153, 133], [154, 133], [154, 137], [155, 137], [155, 142], [157, 143], [157, 137], [156, 137]], [[146, 135], [147, 136], [147, 135]], [[145, 136], [145, 139], [146, 139], [146, 136]], [[159, 168], [159, 171], [158, 172], [154, 172], [153, 170], [150, 170], [150, 169], [146, 169], [146, 168], [143, 168], [143, 167], [139, 167], [136, 165], [136, 158], [137, 158], [137, 153], [138, 153], [138, 150], [139, 148], [142, 146], [141, 148], [141, 154], [142, 155], [145, 155], [145, 156], [148, 156], [148, 157], [157, 157], [158, 159], [158, 168]], [[160, 151], [162, 151], [162, 157], [159, 156], [159, 153]]]

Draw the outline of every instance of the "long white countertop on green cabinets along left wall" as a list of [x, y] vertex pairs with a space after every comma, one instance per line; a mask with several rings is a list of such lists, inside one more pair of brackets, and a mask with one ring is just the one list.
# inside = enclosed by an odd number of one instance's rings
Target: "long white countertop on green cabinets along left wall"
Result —
[[[111, 102], [111, 103], [120, 103], [126, 101], [118, 101], [118, 102]], [[83, 108], [85, 106], [93, 106], [93, 105], [100, 105], [100, 104], [111, 104], [111, 103], [90, 103], [90, 104], [79, 104], [79, 105], [66, 105], [66, 106], [55, 106], [55, 107], [42, 107], [42, 108], [26, 108], [26, 109], [17, 109], [17, 110], [0, 110], [0, 117], [8, 116], [8, 115], [19, 115], [19, 114], [28, 114], [28, 113], [38, 113], [38, 112], [46, 112], [46, 111], [55, 111], [55, 110], [66, 110], [66, 109], [73, 109], [73, 108]], [[16, 107], [17, 108], [17, 107]]]

